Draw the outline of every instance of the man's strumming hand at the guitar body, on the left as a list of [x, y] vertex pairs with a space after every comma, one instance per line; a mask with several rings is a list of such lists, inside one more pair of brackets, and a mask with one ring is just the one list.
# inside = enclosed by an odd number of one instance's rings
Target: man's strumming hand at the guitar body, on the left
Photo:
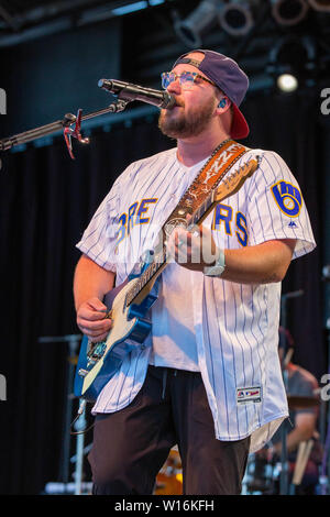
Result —
[[107, 306], [98, 298], [90, 298], [77, 310], [77, 324], [90, 341], [105, 341], [112, 321], [107, 317]]

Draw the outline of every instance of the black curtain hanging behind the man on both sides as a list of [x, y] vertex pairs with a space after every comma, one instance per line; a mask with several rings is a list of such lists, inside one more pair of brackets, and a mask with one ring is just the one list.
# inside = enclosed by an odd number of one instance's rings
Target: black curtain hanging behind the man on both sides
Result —
[[[244, 112], [252, 133], [244, 143], [278, 152], [308, 206], [318, 248], [292, 264], [283, 292], [304, 289], [304, 296], [288, 305], [288, 326], [296, 361], [319, 380], [326, 372], [322, 185], [330, 135], [318, 99], [318, 92], [249, 98]], [[61, 481], [68, 350], [63, 343], [40, 343], [38, 338], [77, 333], [72, 296], [79, 257], [75, 243], [122, 169], [174, 142], [161, 135], [154, 119], [95, 133], [89, 146], [74, 145], [75, 161], [62, 140], [3, 157], [0, 373], [7, 377], [8, 394], [7, 402], [0, 402], [2, 494], [38, 494], [48, 481]], [[86, 443], [90, 439], [87, 435]]]

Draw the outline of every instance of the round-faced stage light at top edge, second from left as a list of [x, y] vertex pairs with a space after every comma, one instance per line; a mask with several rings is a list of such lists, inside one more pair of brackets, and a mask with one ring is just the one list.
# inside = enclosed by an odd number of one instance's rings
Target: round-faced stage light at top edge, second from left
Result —
[[230, 2], [219, 10], [218, 18], [223, 31], [232, 36], [248, 34], [254, 25], [251, 3], [254, 2]]

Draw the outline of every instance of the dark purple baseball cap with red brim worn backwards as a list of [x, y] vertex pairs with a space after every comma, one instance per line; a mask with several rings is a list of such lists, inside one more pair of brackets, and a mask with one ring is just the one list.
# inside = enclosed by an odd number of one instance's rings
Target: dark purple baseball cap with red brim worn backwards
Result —
[[[188, 56], [195, 52], [204, 54], [201, 61], [197, 61]], [[219, 54], [213, 51], [190, 51], [183, 54], [173, 65], [186, 64], [195, 66], [202, 72], [209, 79], [211, 79], [218, 88], [231, 100], [233, 106], [233, 120], [231, 125], [232, 139], [244, 139], [248, 136], [250, 130], [243, 113], [240, 111], [239, 106], [245, 97], [249, 88], [249, 78], [244, 72], [239, 67], [237, 62], [230, 57]]]

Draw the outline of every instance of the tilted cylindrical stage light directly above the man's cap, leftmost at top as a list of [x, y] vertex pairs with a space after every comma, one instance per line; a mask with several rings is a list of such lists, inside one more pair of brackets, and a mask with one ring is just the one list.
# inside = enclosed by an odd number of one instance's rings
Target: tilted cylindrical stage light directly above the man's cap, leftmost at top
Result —
[[185, 20], [174, 23], [175, 32], [187, 46], [201, 45], [201, 34], [217, 22], [219, 3], [219, 0], [202, 0]]

